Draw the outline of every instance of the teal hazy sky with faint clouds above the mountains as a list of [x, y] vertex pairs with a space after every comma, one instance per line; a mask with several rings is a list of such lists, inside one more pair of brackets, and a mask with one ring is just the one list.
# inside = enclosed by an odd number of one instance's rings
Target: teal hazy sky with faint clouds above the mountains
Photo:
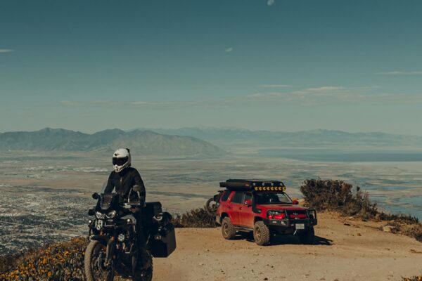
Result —
[[422, 1], [0, 0], [0, 132], [422, 135]]

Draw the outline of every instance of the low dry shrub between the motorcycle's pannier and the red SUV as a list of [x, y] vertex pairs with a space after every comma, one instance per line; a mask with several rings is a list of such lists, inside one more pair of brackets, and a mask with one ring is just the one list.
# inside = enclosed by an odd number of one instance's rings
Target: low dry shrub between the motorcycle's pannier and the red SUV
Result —
[[215, 228], [215, 216], [205, 211], [205, 207], [191, 209], [186, 213], [173, 216], [172, 223], [176, 228]]

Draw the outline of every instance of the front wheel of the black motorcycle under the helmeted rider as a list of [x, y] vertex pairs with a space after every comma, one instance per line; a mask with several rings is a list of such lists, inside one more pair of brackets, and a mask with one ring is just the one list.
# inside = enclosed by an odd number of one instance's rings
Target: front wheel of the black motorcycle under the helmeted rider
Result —
[[113, 264], [106, 266], [106, 246], [91, 240], [85, 251], [84, 270], [87, 281], [113, 281]]

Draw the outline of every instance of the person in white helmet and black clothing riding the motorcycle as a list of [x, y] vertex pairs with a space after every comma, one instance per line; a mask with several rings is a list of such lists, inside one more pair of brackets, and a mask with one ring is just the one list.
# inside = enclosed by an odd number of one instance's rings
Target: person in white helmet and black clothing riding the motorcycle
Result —
[[[139, 172], [131, 167], [131, 157], [129, 148], [120, 148], [113, 154], [113, 167], [114, 171], [111, 172], [108, 177], [108, 182], [104, 193], [112, 193], [113, 190], [122, 196], [124, 200], [138, 201], [139, 204], [145, 204], [145, 185]], [[134, 185], [139, 185], [140, 191], [135, 192], [132, 190]], [[139, 211], [134, 213], [136, 218], [136, 233], [139, 244], [139, 258], [142, 264], [142, 268], [146, 269], [149, 267], [148, 254], [146, 252], [146, 239], [141, 226], [141, 214]]]

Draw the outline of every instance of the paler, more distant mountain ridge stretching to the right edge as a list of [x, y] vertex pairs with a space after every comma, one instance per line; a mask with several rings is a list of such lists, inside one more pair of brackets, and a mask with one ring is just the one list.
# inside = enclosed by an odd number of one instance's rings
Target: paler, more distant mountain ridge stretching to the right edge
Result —
[[249, 131], [245, 129], [182, 128], [150, 129], [169, 135], [192, 136], [219, 145], [224, 149], [242, 147], [375, 147], [375, 148], [422, 148], [422, 136], [396, 135], [392, 133], [348, 133], [316, 129], [311, 131]]

